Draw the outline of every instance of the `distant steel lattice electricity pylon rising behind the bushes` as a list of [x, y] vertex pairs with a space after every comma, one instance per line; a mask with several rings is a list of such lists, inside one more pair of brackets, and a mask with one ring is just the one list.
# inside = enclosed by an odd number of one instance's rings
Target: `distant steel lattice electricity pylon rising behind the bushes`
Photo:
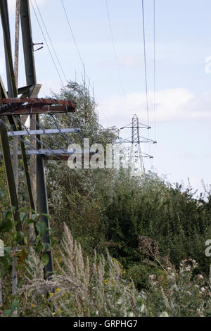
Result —
[[128, 139], [124, 139], [122, 143], [125, 144], [131, 144], [131, 150], [130, 150], [130, 156], [129, 156], [129, 164], [130, 167], [132, 168], [132, 173], [134, 175], [139, 175], [141, 173], [145, 173], [145, 168], [144, 168], [144, 163], [143, 163], [143, 158], [153, 158], [153, 156], [143, 153], [141, 149], [141, 144], [142, 143], [152, 143], [156, 144], [156, 142], [152, 139], [141, 137], [140, 135], [140, 129], [151, 129], [150, 126], [139, 123], [139, 118], [135, 114], [132, 117], [132, 123], [121, 127], [120, 130], [122, 129], [131, 129], [132, 130], [132, 135]]

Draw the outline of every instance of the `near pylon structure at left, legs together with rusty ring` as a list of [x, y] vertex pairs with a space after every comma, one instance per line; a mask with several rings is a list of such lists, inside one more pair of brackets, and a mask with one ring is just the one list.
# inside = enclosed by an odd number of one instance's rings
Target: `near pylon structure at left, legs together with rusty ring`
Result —
[[[6, 56], [6, 74], [7, 74], [7, 85], [8, 85], [8, 93], [4, 87], [3, 82], [0, 77], [0, 96], [1, 96], [1, 104], [4, 104], [1, 107], [0, 115], [5, 120], [9, 122], [11, 126], [11, 131], [16, 132], [18, 137], [18, 132], [22, 131], [21, 122], [26, 119], [23, 118], [23, 115], [30, 115], [30, 131], [33, 132], [32, 135], [36, 135], [36, 144], [33, 146], [34, 151], [25, 149], [25, 142], [23, 135], [20, 136], [20, 149], [21, 156], [23, 159], [23, 168], [25, 173], [25, 179], [27, 183], [27, 191], [30, 200], [31, 209], [36, 209], [37, 213], [40, 214], [40, 220], [46, 224], [46, 228], [49, 229], [49, 218], [46, 214], [49, 213], [48, 210], [48, 199], [46, 192], [46, 178], [44, 171], [44, 156], [45, 153], [38, 153], [43, 149], [44, 144], [41, 142], [41, 127], [39, 125], [39, 114], [40, 113], [48, 113], [52, 112], [64, 112], [67, 113], [70, 111], [67, 102], [62, 101], [55, 102], [51, 99], [46, 99], [46, 104], [42, 99], [39, 100], [41, 106], [39, 107], [36, 103], [36, 100], [32, 100], [33, 97], [39, 93], [39, 89], [41, 85], [37, 85], [35, 65], [34, 65], [34, 44], [32, 41], [32, 27], [31, 27], [31, 19], [30, 19], [30, 4], [29, 0], [17, 0], [16, 2], [16, 20], [15, 20], [15, 63], [13, 66], [13, 56], [11, 50], [11, 37], [10, 37], [10, 25], [9, 25], [9, 17], [8, 17], [8, 4], [7, 0], [0, 0], [0, 14], [1, 14], [1, 24], [4, 32], [4, 49]], [[20, 22], [19, 22], [20, 20]], [[19, 51], [19, 24], [21, 23], [21, 32], [23, 38], [23, 54], [25, 61], [25, 78], [26, 78], [26, 86], [18, 88], [18, 51]], [[22, 97], [25, 97], [28, 101], [21, 101], [18, 99], [18, 96], [23, 94]], [[3, 99], [4, 98], [4, 99]], [[8, 102], [6, 102], [7, 100]], [[12, 100], [12, 101], [11, 101]], [[18, 100], [20, 101], [21, 107], [18, 106]], [[15, 102], [15, 110], [11, 109], [11, 104]], [[65, 104], [66, 103], [66, 104]], [[10, 104], [10, 106], [8, 106]], [[30, 108], [27, 108], [28, 104]], [[56, 105], [56, 106], [55, 106]], [[46, 107], [47, 106], [47, 107]], [[59, 106], [59, 107], [58, 107]], [[72, 108], [71, 104], [69, 105]], [[13, 108], [13, 107], [12, 107]], [[56, 111], [57, 108], [57, 111]], [[60, 108], [60, 109], [58, 109]], [[73, 106], [75, 108], [75, 106]], [[23, 113], [20, 113], [20, 111]], [[7, 110], [8, 113], [4, 114], [4, 110]], [[19, 113], [18, 113], [19, 111]], [[19, 214], [18, 214], [18, 196], [17, 196], [17, 156], [15, 153], [17, 152], [16, 144], [13, 146], [13, 162], [11, 160], [11, 149], [8, 139], [8, 131], [6, 128], [5, 120], [0, 122], [0, 140], [1, 140], [1, 153], [4, 160], [4, 167], [6, 172], [6, 180], [8, 185], [8, 193], [11, 200], [11, 206], [15, 207], [15, 213], [13, 214], [14, 221], [17, 221], [16, 228], [17, 230], [21, 230], [21, 224], [18, 222]], [[24, 132], [24, 131], [23, 131]], [[32, 137], [30, 135], [30, 137]], [[30, 159], [30, 169], [27, 164], [27, 152], [31, 151], [34, 154]], [[52, 150], [53, 152], [53, 150]], [[63, 153], [63, 149], [58, 150], [58, 154]], [[18, 153], [20, 154], [20, 153]], [[54, 155], [54, 154], [53, 154]], [[15, 168], [16, 167], [16, 168]], [[16, 174], [16, 176], [15, 176]], [[33, 237], [33, 233], [32, 233]], [[49, 230], [46, 230], [46, 233], [41, 238], [42, 242], [45, 244], [50, 244], [50, 236]], [[53, 273], [53, 260], [51, 250], [47, 251], [46, 254], [49, 256], [49, 263], [45, 266], [45, 275], [49, 277]], [[14, 292], [15, 292], [15, 282], [14, 282]]]

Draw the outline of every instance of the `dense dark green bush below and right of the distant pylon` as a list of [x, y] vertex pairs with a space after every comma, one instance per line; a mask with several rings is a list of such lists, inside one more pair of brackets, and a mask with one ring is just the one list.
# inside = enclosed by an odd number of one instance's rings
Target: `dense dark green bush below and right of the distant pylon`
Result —
[[202, 262], [201, 271], [207, 273], [204, 244], [211, 230], [208, 204], [194, 198], [191, 189], [174, 188], [155, 174], [141, 180], [122, 175], [113, 185], [106, 208], [108, 239], [120, 244], [112, 254], [124, 258], [127, 265], [140, 261], [146, 256], [137, 251], [137, 239], [146, 235], [159, 243], [160, 253], [169, 255], [175, 266], [192, 257]]

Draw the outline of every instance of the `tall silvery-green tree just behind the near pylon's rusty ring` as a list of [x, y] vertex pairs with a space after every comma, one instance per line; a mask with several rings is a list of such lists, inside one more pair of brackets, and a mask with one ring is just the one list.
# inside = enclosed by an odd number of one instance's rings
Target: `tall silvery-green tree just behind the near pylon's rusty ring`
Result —
[[[60, 94], [53, 97], [77, 102], [77, 111], [71, 114], [72, 120], [75, 127], [81, 128], [82, 137], [89, 138], [90, 144], [100, 143], [105, 146], [117, 139], [117, 130], [114, 127], [105, 129], [100, 125], [96, 102], [90, 96], [86, 85], [69, 82]], [[49, 118], [43, 120], [45, 127], [51, 126]], [[60, 127], [70, 127], [66, 115], [59, 115], [57, 120]], [[77, 135], [71, 135], [71, 141], [82, 146]], [[51, 142], [48, 141], [48, 144]], [[62, 235], [60, 225], [65, 222], [87, 252], [101, 249], [103, 243], [103, 246], [106, 246], [107, 225], [101, 199], [112, 181], [112, 173], [112, 170], [106, 169], [70, 170], [67, 163], [59, 161], [46, 163], [49, 211], [53, 216], [52, 223], [58, 240]]]

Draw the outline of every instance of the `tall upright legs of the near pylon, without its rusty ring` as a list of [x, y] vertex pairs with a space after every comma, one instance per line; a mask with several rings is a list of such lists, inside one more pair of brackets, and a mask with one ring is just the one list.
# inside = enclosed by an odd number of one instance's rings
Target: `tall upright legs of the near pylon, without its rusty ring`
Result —
[[[18, 13], [18, 4], [16, 7]], [[21, 30], [23, 37], [23, 54], [25, 59], [25, 76], [26, 76], [26, 86], [18, 89], [18, 85], [16, 85], [16, 80], [18, 80], [18, 51], [15, 54], [15, 68], [16, 72], [13, 68], [13, 57], [11, 50], [11, 37], [10, 37], [10, 25], [9, 25], [9, 17], [8, 17], [8, 3], [7, 0], [0, 1], [0, 12], [1, 12], [1, 24], [4, 32], [4, 49], [6, 55], [6, 74], [7, 74], [7, 82], [8, 82], [8, 94], [6, 93], [6, 89], [4, 88], [3, 82], [0, 80], [0, 96], [1, 98], [17, 98], [19, 94], [23, 94], [30, 98], [31, 96], [37, 96], [41, 85], [37, 85], [36, 73], [35, 73], [35, 65], [34, 65], [34, 48], [32, 42], [32, 27], [31, 27], [31, 19], [30, 19], [30, 6], [29, 0], [20, 0], [20, 22], [21, 22]], [[18, 18], [16, 17], [18, 23]], [[18, 28], [16, 30], [16, 42], [18, 42]], [[16, 44], [17, 46], [18, 44]], [[16, 49], [17, 50], [17, 49]], [[16, 76], [15, 76], [16, 74]], [[15, 115], [18, 116], [19, 115]], [[21, 130], [21, 125], [18, 124], [15, 116], [12, 114], [8, 114], [7, 118], [12, 127], [13, 131]], [[36, 121], [39, 123], [39, 114], [35, 115]], [[39, 125], [38, 125], [39, 126]], [[39, 127], [36, 127], [36, 129]], [[39, 137], [39, 136], [37, 136]], [[18, 215], [18, 196], [15, 186], [15, 175], [13, 172], [12, 160], [11, 160], [11, 152], [8, 141], [8, 134], [6, 127], [3, 123], [0, 123], [0, 138], [1, 138], [1, 151], [4, 159], [4, 168], [6, 170], [6, 179], [8, 184], [8, 192], [11, 200], [11, 206], [15, 206], [15, 213], [13, 215], [14, 220], [19, 220]], [[39, 137], [40, 140], [40, 137]], [[46, 223], [46, 227], [49, 229], [49, 218], [44, 216], [44, 214], [48, 213], [48, 202], [46, 195], [46, 180], [45, 180], [45, 172], [44, 172], [44, 156], [37, 155], [36, 161], [33, 161], [33, 167], [36, 170], [37, 178], [36, 178], [36, 186], [37, 189], [32, 189], [32, 185], [35, 180], [30, 180], [30, 172], [27, 165], [27, 156], [25, 151], [25, 144], [23, 141], [20, 141], [21, 155], [23, 158], [23, 167], [25, 172], [25, 179], [27, 182], [27, 190], [30, 199], [30, 207], [32, 209], [37, 208], [37, 212], [41, 214], [41, 220]], [[36, 148], [41, 148], [40, 146], [36, 146]], [[35, 185], [34, 185], [35, 186]], [[37, 207], [36, 201], [34, 198], [37, 198]], [[20, 230], [20, 223], [17, 225], [17, 230]], [[46, 234], [42, 238], [44, 243], [50, 243], [49, 232], [46, 231]], [[49, 277], [53, 273], [53, 261], [51, 256], [51, 251], [47, 252], [49, 256], [49, 263], [45, 266], [45, 275]]]

